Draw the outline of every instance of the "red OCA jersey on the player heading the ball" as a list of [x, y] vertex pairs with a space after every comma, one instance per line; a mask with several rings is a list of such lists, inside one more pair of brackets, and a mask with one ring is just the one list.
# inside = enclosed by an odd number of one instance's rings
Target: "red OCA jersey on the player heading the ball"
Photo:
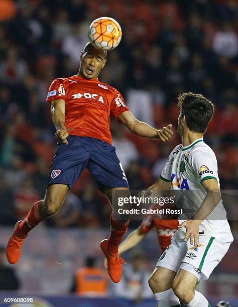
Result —
[[46, 102], [65, 101], [65, 127], [69, 134], [90, 136], [112, 143], [109, 130], [110, 114], [117, 116], [129, 108], [115, 88], [98, 79], [72, 76], [55, 79]]

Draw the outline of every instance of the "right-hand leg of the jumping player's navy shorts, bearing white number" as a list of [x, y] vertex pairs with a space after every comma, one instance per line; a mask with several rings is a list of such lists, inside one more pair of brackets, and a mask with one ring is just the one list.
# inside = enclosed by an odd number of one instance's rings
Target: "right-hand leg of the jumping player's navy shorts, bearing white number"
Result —
[[104, 141], [92, 138], [87, 168], [101, 191], [105, 188], [129, 188], [115, 147]]

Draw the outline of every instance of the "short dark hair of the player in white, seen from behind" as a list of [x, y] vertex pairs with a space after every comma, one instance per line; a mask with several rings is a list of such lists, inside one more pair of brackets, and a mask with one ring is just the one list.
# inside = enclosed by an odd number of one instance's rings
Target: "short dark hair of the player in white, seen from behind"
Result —
[[214, 113], [214, 104], [203, 95], [191, 92], [178, 95], [177, 104], [189, 130], [204, 133]]

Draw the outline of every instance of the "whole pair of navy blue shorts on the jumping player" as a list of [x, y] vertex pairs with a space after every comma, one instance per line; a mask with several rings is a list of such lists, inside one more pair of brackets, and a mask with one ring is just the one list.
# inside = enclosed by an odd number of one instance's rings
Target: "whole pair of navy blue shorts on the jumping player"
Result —
[[48, 185], [65, 184], [72, 188], [87, 168], [99, 189], [129, 188], [115, 147], [100, 139], [69, 135], [68, 144], [59, 144], [51, 165]]

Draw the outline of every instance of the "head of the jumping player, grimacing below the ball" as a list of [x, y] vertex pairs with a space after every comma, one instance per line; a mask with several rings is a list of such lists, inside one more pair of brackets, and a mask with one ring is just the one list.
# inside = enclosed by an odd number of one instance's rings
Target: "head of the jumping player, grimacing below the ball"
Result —
[[95, 79], [106, 64], [106, 51], [98, 50], [87, 43], [81, 52], [80, 60], [80, 76]]

